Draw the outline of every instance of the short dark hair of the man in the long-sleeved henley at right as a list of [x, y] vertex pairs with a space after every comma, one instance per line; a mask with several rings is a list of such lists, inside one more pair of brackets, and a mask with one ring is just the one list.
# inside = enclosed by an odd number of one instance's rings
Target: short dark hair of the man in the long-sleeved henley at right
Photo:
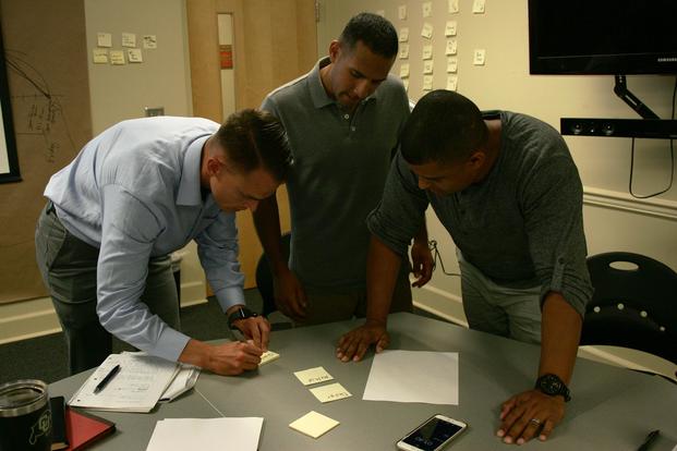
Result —
[[472, 100], [451, 90], [433, 90], [419, 100], [402, 129], [402, 157], [410, 164], [449, 163], [483, 147], [488, 130]]

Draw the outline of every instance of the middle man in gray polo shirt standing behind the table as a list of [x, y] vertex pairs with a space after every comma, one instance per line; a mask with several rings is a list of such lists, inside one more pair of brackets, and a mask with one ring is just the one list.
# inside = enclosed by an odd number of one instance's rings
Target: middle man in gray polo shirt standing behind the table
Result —
[[[397, 56], [397, 33], [382, 16], [359, 14], [329, 57], [274, 90], [262, 109], [287, 130], [294, 167], [287, 179], [291, 208], [291, 257], [280, 248], [275, 197], [254, 214], [270, 260], [278, 308], [297, 322], [317, 324], [364, 316], [365, 219], [380, 199], [392, 150], [409, 115], [401, 82], [388, 72]], [[432, 257], [425, 228], [412, 247], [415, 285], [430, 280]], [[408, 265], [392, 297], [392, 310], [411, 310]]]

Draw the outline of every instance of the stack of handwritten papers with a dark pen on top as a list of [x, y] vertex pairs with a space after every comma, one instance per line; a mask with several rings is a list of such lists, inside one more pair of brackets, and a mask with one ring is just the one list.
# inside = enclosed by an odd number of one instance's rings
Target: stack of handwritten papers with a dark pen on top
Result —
[[[95, 393], [96, 386], [116, 365], [120, 365], [120, 371]], [[111, 354], [73, 394], [69, 405], [100, 411], [150, 412], [180, 369], [181, 365], [176, 362], [144, 353]], [[186, 383], [189, 381], [183, 380], [180, 385], [185, 387]]]

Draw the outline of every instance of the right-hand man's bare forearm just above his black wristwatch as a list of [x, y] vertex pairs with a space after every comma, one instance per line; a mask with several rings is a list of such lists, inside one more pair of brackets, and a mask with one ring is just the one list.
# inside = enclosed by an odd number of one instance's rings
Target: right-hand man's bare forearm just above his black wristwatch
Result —
[[556, 292], [546, 295], [542, 318], [539, 376], [554, 374], [569, 385], [576, 364], [582, 318]]

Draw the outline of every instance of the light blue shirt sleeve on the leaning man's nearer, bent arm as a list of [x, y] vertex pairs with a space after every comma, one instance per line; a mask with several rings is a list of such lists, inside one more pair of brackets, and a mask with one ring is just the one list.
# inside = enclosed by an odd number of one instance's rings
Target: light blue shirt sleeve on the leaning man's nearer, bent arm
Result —
[[104, 328], [152, 355], [177, 361], [189, 337], [154, 315], [141, 296], [161, 221], [117, 184], [101, 190], [101, 247], [97, 265], [97, 314]]

